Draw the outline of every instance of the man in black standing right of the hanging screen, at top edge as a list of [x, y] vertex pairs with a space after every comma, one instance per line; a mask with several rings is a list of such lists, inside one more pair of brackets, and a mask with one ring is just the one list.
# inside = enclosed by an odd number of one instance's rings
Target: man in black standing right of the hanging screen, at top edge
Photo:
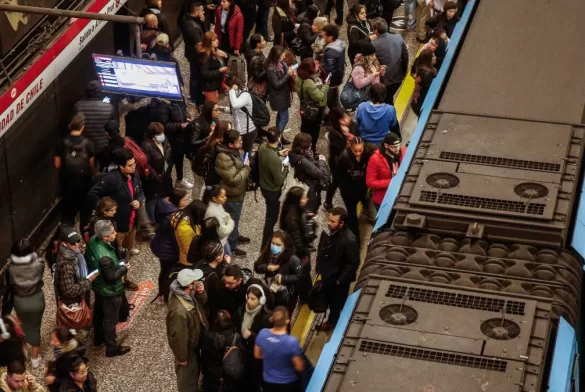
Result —
[[203, 105], [205, 97], [201, 92], [201, 62], [197, 55], [195, 46], [203, 41], [203, 34], [205, 34], [205, 10], [199, 1], [189, 4], [188, 14], [181, 19], [180, 28], [183, 34], [183, 41], [185, 41], [185, 58], [189, 61], [189, 69], [191, 70], [191, 79], [189, 80], [189, 91], [191, 92], [190, 102], [197, 106]]

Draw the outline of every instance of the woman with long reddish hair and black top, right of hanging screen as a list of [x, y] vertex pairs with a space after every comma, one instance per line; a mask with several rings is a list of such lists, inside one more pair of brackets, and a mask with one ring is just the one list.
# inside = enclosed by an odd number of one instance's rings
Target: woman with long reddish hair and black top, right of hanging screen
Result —
[[227, 57], [224, 57], [225, 53], [218, 50], [218, 47], [217, 34], [211, 31], [205, 33], [203, 40], [196, 46], [201, 58], [201, 90], [206, 101], [215, 103], [219, 102], [218, 91], [229, 71], [226, 67]]

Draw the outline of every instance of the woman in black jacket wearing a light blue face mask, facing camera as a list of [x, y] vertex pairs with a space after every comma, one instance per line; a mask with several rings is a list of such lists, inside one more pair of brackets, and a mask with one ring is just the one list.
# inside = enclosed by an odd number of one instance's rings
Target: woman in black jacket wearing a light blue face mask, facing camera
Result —
[[264, 280], [274, 294], [275, 306], [294, 310], [298, 297], [295, 286], [302, 276], [302, 264], [286, 232], [277, 230], [272, 234], [272, 240], [254, 263], [254, 271], [264, 274]]

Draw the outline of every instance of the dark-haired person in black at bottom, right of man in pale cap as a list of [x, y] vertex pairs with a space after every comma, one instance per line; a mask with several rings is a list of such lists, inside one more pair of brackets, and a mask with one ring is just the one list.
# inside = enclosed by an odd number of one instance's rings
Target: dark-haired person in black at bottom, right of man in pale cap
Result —
[[201, 339], [201, 373], [205, 392], [240, 391], [239, 382], [229, 378], [223, 371], [226, 349], [236, 346], [242, 353], [246, 345], [236, 331], [231, 315], [226, 310], [215, 314], [211, 328]]

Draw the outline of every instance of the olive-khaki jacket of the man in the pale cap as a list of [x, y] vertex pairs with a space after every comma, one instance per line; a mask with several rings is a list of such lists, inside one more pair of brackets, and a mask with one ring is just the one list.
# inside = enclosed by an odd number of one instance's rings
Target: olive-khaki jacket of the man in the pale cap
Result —
[[[176, 285], [176, 281], [173, 282]], [[193, 303], [178, 297], [171, 289], [167, 305], [167, 340], [177, 359], [177, 362], [186, 362], [190, 356], [197, 353], [199, 340], [205, 332], [202, 322], [203, 306], [207, 302], [207, 294], [194, 294]]]

